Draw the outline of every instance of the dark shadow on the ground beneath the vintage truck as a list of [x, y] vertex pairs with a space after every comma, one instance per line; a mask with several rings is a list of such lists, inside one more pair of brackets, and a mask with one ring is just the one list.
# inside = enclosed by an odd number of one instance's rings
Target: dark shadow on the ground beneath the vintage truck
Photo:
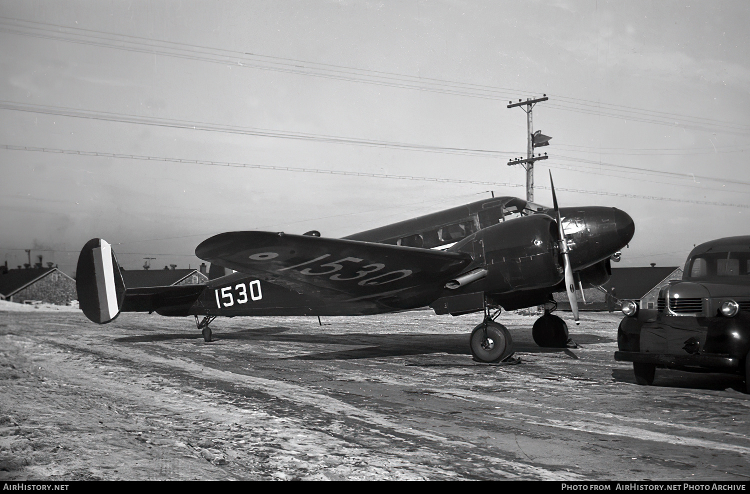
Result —
[[[636, 384], [633, 368], [615, 368], [612, 377], [616, 382]], [[656, 369], [656, 376], [648, 388], [682, 388], [703, 389], [707, 391], [725, 391], [733, 389], [742, 392], [742, 377], [722, 373], [691, 373], [682, 370]]]

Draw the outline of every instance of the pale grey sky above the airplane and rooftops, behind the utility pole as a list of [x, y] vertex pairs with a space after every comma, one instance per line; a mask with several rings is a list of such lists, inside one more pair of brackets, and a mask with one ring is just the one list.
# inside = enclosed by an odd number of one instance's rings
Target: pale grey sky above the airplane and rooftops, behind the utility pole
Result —
[[535, 202], [551, 169], [561, 205], [634, 218], [620, 266], [682, 265], [750, 235], [748, 6], [4, 0], [0, 262], [73, 274], [99, 237], [127, 269], [195, 268], [219, 232], [341, 237], [523, 197], [506, 106], [547, 94]]

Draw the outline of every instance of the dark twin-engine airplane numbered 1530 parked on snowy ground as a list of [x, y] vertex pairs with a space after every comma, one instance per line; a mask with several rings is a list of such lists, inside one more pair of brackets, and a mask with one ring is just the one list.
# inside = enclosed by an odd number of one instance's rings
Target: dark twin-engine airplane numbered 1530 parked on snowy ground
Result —
[[101, 324], [121, 312], [195, 316], [207, 342], [217, 316], [364, 316], [426, 306], [454, 316], [484, 311], [470, 337], [472, 355], [502, 361], [513, 343], [494, 321], [500, 310], [544, 304], [534, 340], [565, 346], [568, 328], [551, 313], [551, 294], [568, 292], [577, 324], [575, 285], [605, 283], [610, 258], [619, 259], [633, 237], [624, 211], [558, 208], [554, 188], [552, 194], [553, 208], [497, 197], [344, 238], [221, 233], [196, 247], [196, 256], [211, 262], [208, 283], [198, 285], [127, 288], [110, 244], [94, 238], [78, 259], [78, 299]]

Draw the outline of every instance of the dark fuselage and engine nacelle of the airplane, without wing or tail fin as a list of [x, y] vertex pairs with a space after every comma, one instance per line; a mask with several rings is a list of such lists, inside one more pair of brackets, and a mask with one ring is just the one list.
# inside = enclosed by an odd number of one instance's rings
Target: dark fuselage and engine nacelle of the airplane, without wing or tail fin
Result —
[[[619, 209], [598, 206], [560, 208], [560, 214], [572, 268], [584, 283], [604, 283], [608, 259], [633, 236], [631, 217]], [[302, 291], [237, 272], [209, 281], [189, 305], [183, 301], [154, 310], [164, 315], [230, 317], [354, 316], [425, 307], [438, 299], [466, 294], [479, 294], [482, 302], [486, 296], [491, 304], [506, 310], [530, 307], [544, 303], [551, 292], [564, 291], [559, 234], [552, 215], [550, 208], [514, 197], [498, 197], [344, 237], [420, 250], [438, 248], [464, 257], [468, 254], [472, 261], [463, 272], [483, 268], [487, 274], [458, 289], [446, 288], [448, 280], [415, 283], [389, 298], [367, 301], [332, 298], [323, 290]], [[311, 266], [315, 264], [305, 268]], [[347, 265], [338, 272], [345, 279], [361, 272], [356, 268]]]

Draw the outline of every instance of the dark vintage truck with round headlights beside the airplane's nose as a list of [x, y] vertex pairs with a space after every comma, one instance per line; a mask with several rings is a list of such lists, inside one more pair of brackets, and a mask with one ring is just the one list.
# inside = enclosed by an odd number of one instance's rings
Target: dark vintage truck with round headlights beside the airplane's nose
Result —
[[660, 367], [736, 373], [750, 393], [750, 235], [698, 245], [655, 309], [623, 301], [622, 313], [614, 358], [633, 363], [639, 385]]

